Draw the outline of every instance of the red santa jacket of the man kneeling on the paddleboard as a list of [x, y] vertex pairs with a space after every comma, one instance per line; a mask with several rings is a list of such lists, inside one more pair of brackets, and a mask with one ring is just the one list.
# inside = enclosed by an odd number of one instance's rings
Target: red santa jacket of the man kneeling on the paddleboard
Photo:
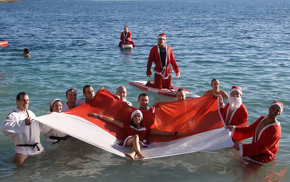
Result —
[[162, 75], [163, 79], [168, 79], [168, 76], [171, 75], [172, 71], [171, 71], [171, 67], [169, 66], [170, 63], [172, 65], [174, 72], [176, 74], [180, 73], [180, 70], [175, 61], [171, 47], [167, 46], [166, 44], [165, 44], [165, 47], [166, 47], [166, 68], [163, 71], [163, 74], [162, 74], [162, 63], [161, 63], [161, 58], [160, 58], [159, 46], [156, 45], [152, 47], [149, 53], [148, 62], [147, 62], [147, 71], [146, 71], [147, 76], [152, 75], [151, 66], [153, 62], [155, 63], [155, 67], [153, 71], [159, 75]]

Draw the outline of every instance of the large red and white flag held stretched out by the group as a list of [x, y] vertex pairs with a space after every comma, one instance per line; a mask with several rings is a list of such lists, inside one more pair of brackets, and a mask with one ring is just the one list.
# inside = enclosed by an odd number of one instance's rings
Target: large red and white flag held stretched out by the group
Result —
[[[124, 129], [87, 116], [87, 113], [93, 112], [130, 124], [131, 114], [136, 108], [115, 98], [116, 96], [108, 90], [100, 90], [94, 100], [88, 103], [64, 113], [52, 112], [33, 119], [79, 140], [125, 157], [124, 153], [130, 153], [131, 147], [117, 146], [126, 138]], [[230, 130], [224, 128], [218, 99], [214, 98], [213, 94], [185, 101], [159, 102], [148, 111], [142, 110], [142, 114], [142, 124], [148, 129], [186, 133], [182, 137], [148, 135], [146, 140], [150, 142], [150, 146], [141, 149], [145, 159], [215, 150], [233, 145]]]

